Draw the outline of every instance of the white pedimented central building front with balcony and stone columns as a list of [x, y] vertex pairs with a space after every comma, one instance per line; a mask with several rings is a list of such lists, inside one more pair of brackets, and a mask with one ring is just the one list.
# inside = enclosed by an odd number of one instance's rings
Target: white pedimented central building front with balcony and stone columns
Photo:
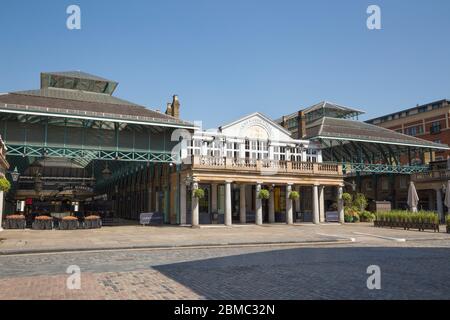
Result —
[[[259, 113], [215, 132], [196, 131], [182, 145], [181, 224], [344, 221], [341, 166], [323, 163], [319, 145], [291, 138]], [[197, 188], [207, 191], [203, 199], [195, 197]], [[291, 198], [293, 191], [298, 199]]]

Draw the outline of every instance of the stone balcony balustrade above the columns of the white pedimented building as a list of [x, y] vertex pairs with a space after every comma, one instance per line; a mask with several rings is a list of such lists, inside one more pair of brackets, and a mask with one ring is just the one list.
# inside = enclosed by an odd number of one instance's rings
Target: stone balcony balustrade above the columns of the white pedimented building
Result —
[[208, 156], [192, 157], [192, 169], [235, 171], [267, 175], [342, 176], [342, 166], [334, 163], [236, 159]]

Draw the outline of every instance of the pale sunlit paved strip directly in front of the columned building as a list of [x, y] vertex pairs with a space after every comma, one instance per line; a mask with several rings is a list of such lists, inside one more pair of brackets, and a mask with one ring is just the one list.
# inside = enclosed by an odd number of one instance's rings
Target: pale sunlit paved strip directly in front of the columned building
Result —
[[[387, 237], [405, 237], [410, 241], [423, 239], [449, 240], [450, 234], [374, 228], [371, 224], [339, 225], [265, 224], [234, 227], [105, 227], [97, 230], [5, 230], [0, 233], [0, 255], [11, 252], [42, 252], [57, 250], [124, 249], [141, 247], [173, 247], [224, 245], [242, 243], [285, 243], [336, 241], [354, 232]], [[331, 236], [330, 236], [331, 235]]]

